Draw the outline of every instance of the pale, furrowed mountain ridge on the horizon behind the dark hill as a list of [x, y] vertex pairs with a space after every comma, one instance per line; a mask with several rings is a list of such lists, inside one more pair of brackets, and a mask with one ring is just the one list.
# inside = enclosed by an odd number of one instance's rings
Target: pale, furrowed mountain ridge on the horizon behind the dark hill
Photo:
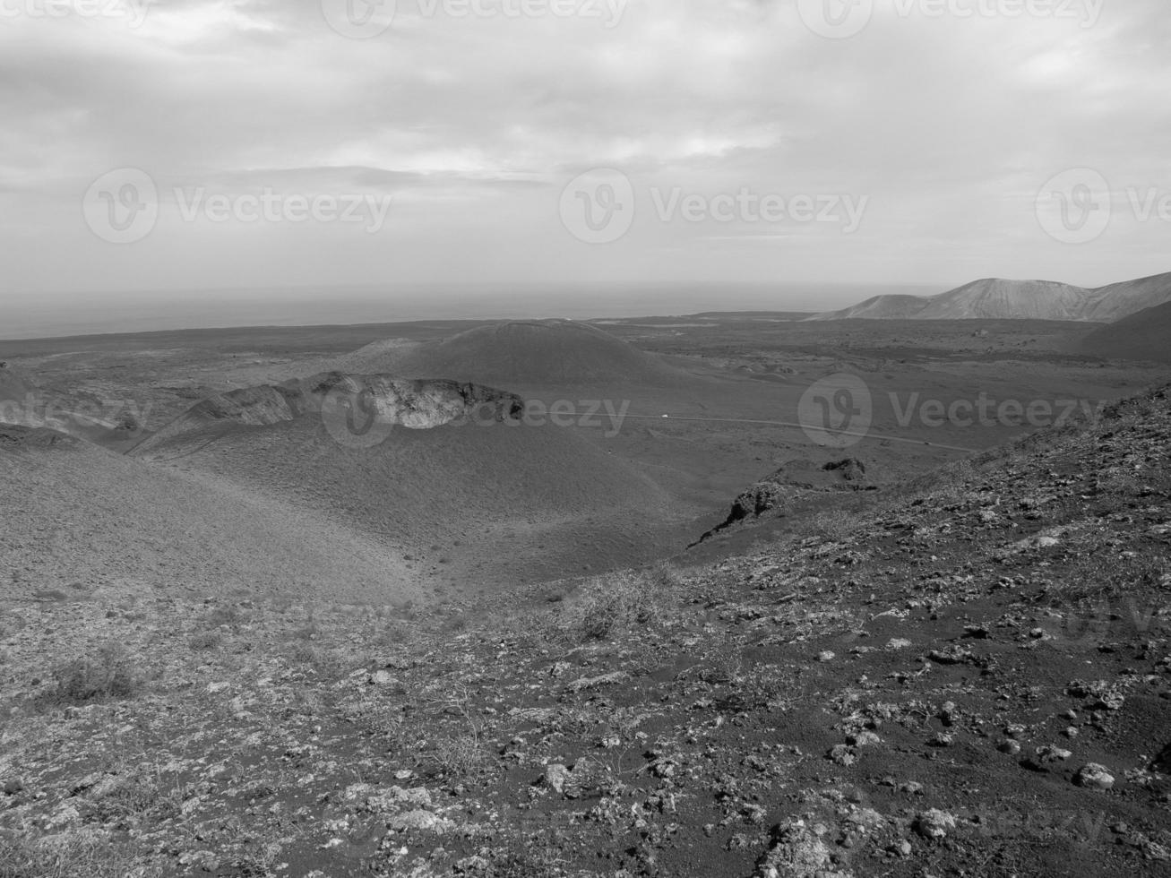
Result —
[[810, 320], [1069, 320], [1109, 323], [1171, 302], [1171, 273], [1086, 289], [986, 279], [937, 296], [885, 295]]

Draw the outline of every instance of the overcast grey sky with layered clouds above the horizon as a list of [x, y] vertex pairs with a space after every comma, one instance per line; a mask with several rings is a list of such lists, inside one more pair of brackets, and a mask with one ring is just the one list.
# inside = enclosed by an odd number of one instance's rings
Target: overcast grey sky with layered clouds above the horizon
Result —
[[0, 0], [0, 337], [192, 290], [1171, 270], [1165, 5]]

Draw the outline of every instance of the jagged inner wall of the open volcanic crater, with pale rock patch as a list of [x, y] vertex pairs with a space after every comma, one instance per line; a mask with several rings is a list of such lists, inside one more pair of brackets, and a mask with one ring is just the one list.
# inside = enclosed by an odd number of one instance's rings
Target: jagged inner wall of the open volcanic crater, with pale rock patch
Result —
[[263, 427], [302, 417], [377, 418], [385, 426], [433, 430], [464, 418], [519, 420], [525, 402], [515, 393], [445, 379], [323, 372], [282, 384], [219, 393], [197, 403], [135, 450], [146, 453], [186, 435], [224, 428]]

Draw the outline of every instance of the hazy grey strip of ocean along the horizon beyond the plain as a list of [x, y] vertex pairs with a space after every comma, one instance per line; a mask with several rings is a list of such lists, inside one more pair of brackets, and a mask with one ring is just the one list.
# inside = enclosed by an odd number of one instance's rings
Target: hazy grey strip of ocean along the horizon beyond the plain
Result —
[[943, 287], [828, 283], [415, 284], [6, 296], [0, 338], [417, 320], [641, 317], [703, 311], [817, 313], [884, 293]]

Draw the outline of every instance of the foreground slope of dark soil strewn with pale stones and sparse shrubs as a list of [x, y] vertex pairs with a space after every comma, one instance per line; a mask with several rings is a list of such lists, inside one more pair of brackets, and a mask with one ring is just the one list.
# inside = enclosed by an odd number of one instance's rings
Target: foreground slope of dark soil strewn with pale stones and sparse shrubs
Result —
[[482, 619], [11, 604], [0, 863], [1166, 874], [1169, 440], [1164, 390], [749, 555]]

